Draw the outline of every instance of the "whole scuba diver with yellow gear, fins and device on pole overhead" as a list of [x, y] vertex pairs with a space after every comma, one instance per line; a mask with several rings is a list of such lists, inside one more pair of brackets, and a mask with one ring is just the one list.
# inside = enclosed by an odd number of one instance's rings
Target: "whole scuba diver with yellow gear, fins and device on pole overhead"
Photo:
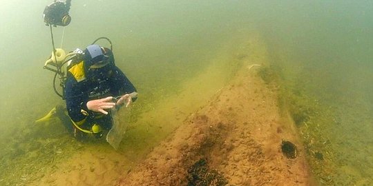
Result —
[[[135, 101], [137, 90], [115, 65], [110, 39], [99, 37], [85, 50], [77, 49], [68, 53], [61, 48], [55, 48], [52, 27], [65, 27], [70, 23], [70, 6], [71, 0], [55, 0], [46, 6], [43, 14], [44, 22], [50, 28], [53, 49], [44, 69], [55, 72], [53, 88], [55, 93], [66, 101], [66, 108], [59, 105], [36, 123], [58, 116], [77, 139], [84, 136], [100, 138], [106, 132], [113, 136], [117, 126], [113, 125], [115, 112], [122, 105], [128, 107]], [[108, 41], [110, 49], [95, 44], [100, 39]], [[57, 79], [62, 91], [57, 90]], [[106, 141], [116, 148], [122, 138], [115, 138], [114, 143], [108, 136], [106, 135]]]

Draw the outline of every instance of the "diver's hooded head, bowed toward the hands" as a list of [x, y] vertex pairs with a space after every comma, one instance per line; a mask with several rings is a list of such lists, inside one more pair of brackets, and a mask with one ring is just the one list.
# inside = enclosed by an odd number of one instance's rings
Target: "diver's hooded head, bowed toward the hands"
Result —
[[90, 69], [103, 68], [110, 63], [110, 57], [105, 55], [104, 48], [99, 45], [89, 45], [84, 50], [85, 63]]

